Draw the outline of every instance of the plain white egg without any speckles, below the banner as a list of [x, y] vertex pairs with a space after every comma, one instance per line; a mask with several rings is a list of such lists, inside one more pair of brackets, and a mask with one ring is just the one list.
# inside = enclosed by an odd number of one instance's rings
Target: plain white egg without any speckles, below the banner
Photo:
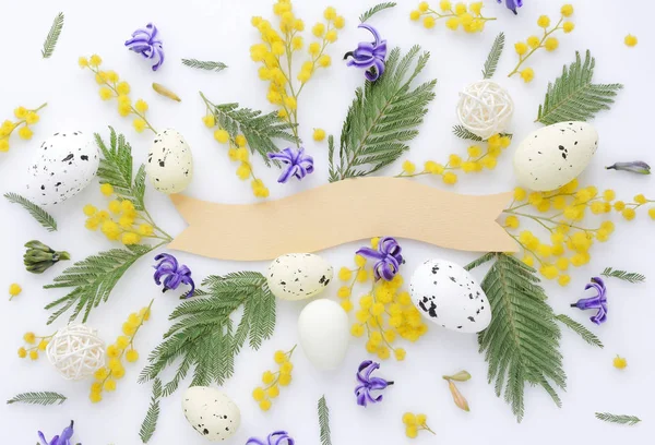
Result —
[[298, 317], [298, 336], [307, 359], [322, 371], [342, 364], [348, 349], [348, 315], [332, 300], [315, 300]]

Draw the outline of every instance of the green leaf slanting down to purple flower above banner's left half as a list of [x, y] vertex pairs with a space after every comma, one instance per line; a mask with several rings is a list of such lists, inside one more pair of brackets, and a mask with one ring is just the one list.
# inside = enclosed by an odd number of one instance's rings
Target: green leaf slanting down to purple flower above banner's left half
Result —
[[296, 136], [290, 133], [295, 124], [285, 122], [276, 112], [262, 115], [258, 110], [239, 108], [239, 104], [215, 105], [204, 94], [200, 95], [210, 112], [214, 115], [216, 123], [229, 133], [230, 139], [243, 134], [250, 151], [253, 154], [259, 153], [266, 166], [271, 165], [269, 153], [278, 152], [273, 140], [296, 142]]

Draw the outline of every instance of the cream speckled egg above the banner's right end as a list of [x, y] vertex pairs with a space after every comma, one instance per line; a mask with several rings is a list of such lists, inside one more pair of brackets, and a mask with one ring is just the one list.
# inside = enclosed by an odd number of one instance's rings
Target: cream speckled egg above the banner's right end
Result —
[[548, 192], [577, 178], [598, 148], [598, 133], [586, 122], [560, 122], [531, 133], [514, 155], [519, 183]]

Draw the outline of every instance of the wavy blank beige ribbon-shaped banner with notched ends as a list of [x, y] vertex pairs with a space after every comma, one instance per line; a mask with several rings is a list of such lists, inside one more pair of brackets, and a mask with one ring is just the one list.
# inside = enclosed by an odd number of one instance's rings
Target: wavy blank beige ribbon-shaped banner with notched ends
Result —
[[272, 260], [379, 236], [472, 252], [517, 250], [496, 222], [511, 192], [468, 196], [407, 179], [360, 178], [249, 205], [170, 199], [189, 227], [169, 248], [218, 260]]

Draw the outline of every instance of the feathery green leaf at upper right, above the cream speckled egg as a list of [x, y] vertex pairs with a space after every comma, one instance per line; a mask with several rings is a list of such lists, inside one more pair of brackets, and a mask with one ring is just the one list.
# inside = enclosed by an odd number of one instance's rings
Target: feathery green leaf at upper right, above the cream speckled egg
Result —
[[587, 121], [598, 111], [608, 110], [621, 84], [593, 84], [596, 59], [586, 51], [584, 63], [575, 51], [575, 62], [562, 70], [562, 75], [548, 84], [544, 105], [539, 105], [536, 122], [550, 125], [564, 121]]

